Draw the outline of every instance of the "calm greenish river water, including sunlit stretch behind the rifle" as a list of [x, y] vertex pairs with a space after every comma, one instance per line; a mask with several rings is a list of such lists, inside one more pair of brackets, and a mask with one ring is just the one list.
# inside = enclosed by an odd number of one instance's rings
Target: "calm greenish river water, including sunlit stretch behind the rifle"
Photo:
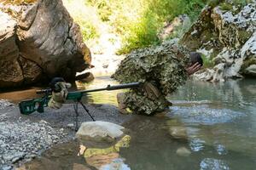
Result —
[[[109, 77], [96, 77], [90, 84], [77, 85], [102, 88], [115, 83]], [[90, 94], [86, 100], [117, 105], [119, 92], [98, 92]], [[131, 141], [129, 147], [121, 148], [118, 153], [91, 161], [77, 156], [79, 143], [73, 141], [47, 151], [41, 159], [30, 163], [30, 169], [47, 168], [45, 164], [49, 163], [45, 159], [61, 165], [61, 169], [256, 168], [255, 79], [216, 84], [188, 81], [168, 99], [173, 103], [169, 111], [156, 116], [134, 116], [125, 122], [123, 126], [129, 129]], [[171, 135], [173, 127], [183, 129], [182, 139]]]

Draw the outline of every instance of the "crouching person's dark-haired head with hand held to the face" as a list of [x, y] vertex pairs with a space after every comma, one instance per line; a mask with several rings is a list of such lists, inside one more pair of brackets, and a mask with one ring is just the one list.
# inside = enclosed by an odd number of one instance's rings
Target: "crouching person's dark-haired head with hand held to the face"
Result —
[[196, 71], [199, 71], [202, 65], [203, 59], [201, 58], [201, 54], [196, 52], [190, 53], [189, 64], [186, 68], [188, 75], [193, 75]]

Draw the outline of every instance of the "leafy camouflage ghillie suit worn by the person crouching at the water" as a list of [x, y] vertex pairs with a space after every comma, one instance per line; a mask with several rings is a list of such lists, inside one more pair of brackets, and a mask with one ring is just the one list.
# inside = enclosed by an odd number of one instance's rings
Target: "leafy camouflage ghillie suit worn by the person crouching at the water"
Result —
[[144, 82], [142, 88], [126, 92], [123, 102], [131, 111], [150, 115], [170, 105], [165, 97], [186, 81], [188, 62], [187, 49], [176, 42], [165, 42], [129, 54], [112, 77], [121, 83]]

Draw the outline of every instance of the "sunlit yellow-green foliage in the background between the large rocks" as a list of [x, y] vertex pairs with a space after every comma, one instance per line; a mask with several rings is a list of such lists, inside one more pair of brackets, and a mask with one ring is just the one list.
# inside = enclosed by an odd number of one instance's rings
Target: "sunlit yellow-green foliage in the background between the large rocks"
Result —
[[[63, 1], [74, 20], [81, 26], [84, 40], [100, 37], [101, 29], [98, 25], [102, 26], [104, 23], [111, 26], [110, 32], [121, 37], [122, 48], [119, 54], [160, 43], [158, 34], [165, 23], [172, 22], [180, 14], [188, 14], [194, 21], [207, 3], [207, 0]], [[180, 37], [190, 25], [191, 22], [189, 25], [186, 23], [177, 27], [171, 37]]]

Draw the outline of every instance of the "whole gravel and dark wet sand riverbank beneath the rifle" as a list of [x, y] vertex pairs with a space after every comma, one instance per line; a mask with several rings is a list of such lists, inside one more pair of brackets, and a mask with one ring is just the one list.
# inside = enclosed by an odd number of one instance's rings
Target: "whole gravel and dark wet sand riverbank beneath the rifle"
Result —
[[[119, 114], [113, 105], [88, 105], [96, 120], [122, 124], [131, 118]], [[79, 108], [79, 124], [88, 122], [90, 116]], [[0, 100], [0, 169], [14, 169], [34, 157], [40, 156], [55, 144], [74, 138], [73, 105], [60, 110], [46, 109], [44, 113], [20, 115], [17, 105]]]

